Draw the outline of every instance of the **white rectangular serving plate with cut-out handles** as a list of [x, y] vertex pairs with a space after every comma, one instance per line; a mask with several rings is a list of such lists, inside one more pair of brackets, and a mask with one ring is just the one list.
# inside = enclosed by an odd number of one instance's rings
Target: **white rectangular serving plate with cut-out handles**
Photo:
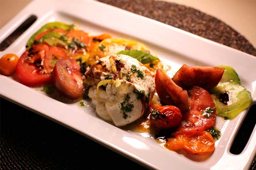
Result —
[[[38, 9], [40, 6], [40, 9]], [[198, 66], [229, 65], [252, 93], [256, 103], [256, 57], [158, 21], [130, 13], [97, 1], [33, 1], [0, 30], [0, 42], [29, 16], [36, 15], [32, 24], [0, 56], [25, 51], [30, 36], [44, 24], [53, 21], [75, 23], [91, 35], [109, 33], [145, 43], [160, 59], [172, 66], [172, 72], [182, 64]], [[229, 152], [236, 132], [248, 109], [233, 120], [218, 121], [222, 136], [215, 142], [213, 155], [203, 162], [194, 162], [181, 154], [159, 146], [152, 138], [117, 128], [95, 116], [92, 107], [80, 108], [78, 101], [60, 102], [38, 88], [22, 85], [11, 77], [0, 75], [0, 94], [33, 112], [47, 117], [152, 169], [248, 169], [256, 154], [256, 127], [239, 155]], [[87, 104], [90, 105], [89, 102]], [[251, 105], [252, 105], [251, 104]], [[250, 107], [249, 107], [250, 108]]]

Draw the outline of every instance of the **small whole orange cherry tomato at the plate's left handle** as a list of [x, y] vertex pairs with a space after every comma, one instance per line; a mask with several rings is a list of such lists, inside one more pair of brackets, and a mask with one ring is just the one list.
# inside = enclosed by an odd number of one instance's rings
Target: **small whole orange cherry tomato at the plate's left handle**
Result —
[[0, 59], [0, 73], [11, 75], [15, 72], [18, 63], [18, 57], [15, 54], [5, 54]]

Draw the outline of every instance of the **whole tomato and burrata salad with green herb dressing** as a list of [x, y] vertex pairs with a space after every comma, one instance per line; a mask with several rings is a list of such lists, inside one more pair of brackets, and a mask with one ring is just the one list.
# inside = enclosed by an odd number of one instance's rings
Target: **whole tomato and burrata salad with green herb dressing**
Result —
[[170, 77], [144, 44], [91, 36], [74, 24], [48, 23], [26, 48], [20, 58], [1, 57], [1, 74], [15, 73], [26, 86], [44, 85], [47, 94], [89, 100], [101, 119], [124, 129], [135, 126], [185, 155], [208, 158], [221, 135], [216, 116], [233, 119], [251, 103], [251, 93], [230, 66], [184, 63]]

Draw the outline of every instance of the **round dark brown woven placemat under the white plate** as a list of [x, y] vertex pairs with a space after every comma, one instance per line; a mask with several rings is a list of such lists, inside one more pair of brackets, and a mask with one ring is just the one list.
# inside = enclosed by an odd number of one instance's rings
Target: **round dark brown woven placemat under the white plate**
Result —
[[[256, 49], [244, 36], [193, 8], [153, 0], [101, 1], [256, 56]], [[3, 98], [0, 104], [1, 169], [119, 169], [120, 164], [125, 169], [144, 169], [110, 149]], [[256, 160], [251, 169], [256, 169], [255, 164]]]

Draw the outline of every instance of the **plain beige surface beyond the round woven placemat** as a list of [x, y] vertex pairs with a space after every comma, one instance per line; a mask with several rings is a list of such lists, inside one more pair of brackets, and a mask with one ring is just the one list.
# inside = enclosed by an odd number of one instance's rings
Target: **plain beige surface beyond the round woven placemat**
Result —
[[[0, 0], [0, 28], [31, 0]], [[166, 0], [212, 15], [244, 35], [256, 47], [256, 0]]]

